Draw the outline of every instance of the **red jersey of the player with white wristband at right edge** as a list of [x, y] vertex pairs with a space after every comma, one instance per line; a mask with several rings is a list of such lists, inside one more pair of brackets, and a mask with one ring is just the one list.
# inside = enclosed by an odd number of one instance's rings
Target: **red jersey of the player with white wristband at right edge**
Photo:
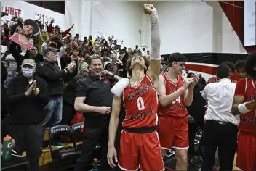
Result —
[[[253, 78], [240, 79], [236, 84], [235, 96], [244, 96], [244, 102], [255, 100], [255, 83]], [[241, 114], [239, 130], [249, 135], [256, 136], [256, 112], [252, 109], [246, 114]]]

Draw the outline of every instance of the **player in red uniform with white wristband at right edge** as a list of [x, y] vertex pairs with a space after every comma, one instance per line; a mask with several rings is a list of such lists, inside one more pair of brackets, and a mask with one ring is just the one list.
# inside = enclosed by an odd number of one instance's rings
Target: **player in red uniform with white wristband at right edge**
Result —
[[239, 123], [236, 167], [241, 170], [256, 170], [256, 53], [247, 57], [245, 69], [249, 77], [236, 84], [231, 112], [241, 114]]

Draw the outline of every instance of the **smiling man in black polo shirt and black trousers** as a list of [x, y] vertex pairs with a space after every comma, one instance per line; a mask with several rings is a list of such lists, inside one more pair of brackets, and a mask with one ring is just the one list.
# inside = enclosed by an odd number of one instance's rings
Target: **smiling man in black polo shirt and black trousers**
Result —
[[[107, 162], [108, 152], [108, 124], [111, 114], [113, 94], [111, 87], [103, 77], [103, 61], [100, 57], [90, 59], [91, 75], [84, 78], [76, 88], [76, 111], [84, 114], [84, 141], [82, 154], [76, 162], [74, 170], [84, 170], [92, 153], [100, 142], [101, 169], [111, 170]], [[104, 72], [106, 76], [119, 80], [120, 77]]]

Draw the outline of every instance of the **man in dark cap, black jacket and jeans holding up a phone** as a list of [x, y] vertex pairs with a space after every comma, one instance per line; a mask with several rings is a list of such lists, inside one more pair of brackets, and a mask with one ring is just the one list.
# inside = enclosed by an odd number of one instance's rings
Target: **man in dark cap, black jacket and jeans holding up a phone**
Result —
[[[56, 64], [57, 52], [59, 49], [47, 47], [44, 51], [44, 62], [39, 64], [37, 69], [38, 75], [47, 82], [49, 93], [49, 104], [44, 107], [44, 121], [43, 132], [47, 126], [54, 126], [60, 123], [63, 114], [63, 77], [69, 73], [70, 70], [76, 68], [76, 63], [71, 62], [64, 70]], [[43, 137], [42, 137], [43, 140]]]

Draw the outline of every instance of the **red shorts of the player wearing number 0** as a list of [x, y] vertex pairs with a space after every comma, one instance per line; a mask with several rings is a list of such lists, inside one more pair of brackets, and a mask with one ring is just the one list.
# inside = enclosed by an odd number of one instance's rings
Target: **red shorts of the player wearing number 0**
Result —
[[121, 133], [119, 167], [121, 170], [164, 170], [159, 136], [152, 133]]

